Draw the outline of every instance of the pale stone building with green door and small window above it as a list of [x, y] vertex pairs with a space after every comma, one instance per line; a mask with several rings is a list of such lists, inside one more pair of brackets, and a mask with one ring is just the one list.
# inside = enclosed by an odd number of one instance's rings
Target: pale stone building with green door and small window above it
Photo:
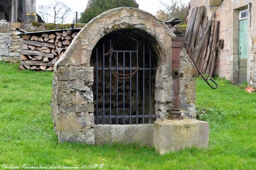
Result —
[[218, 49], [215, 74], [232, 84], [246, 81], [256, 86], [256, 0], [190, 1], [190, 9], [197, 6], [206, 7], [204, 15], [208, 18], [216, 9], [215, 20], [220, 21], [224, 48]]

